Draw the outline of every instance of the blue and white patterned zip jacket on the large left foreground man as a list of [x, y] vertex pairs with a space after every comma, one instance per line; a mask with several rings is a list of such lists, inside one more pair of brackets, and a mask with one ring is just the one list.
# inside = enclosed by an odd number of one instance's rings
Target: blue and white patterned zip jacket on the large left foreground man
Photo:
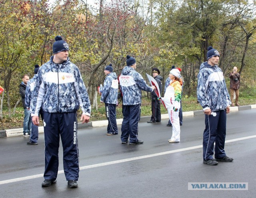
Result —
[[38, 70], [31, 116], [37, 116], [41, 106], [49, 113], [76, 112], [80, 106], [83, 114], [90, 116], [90, 99], [78, 67], [69, 59], [62, 64], [52, 60], [53, 56]]

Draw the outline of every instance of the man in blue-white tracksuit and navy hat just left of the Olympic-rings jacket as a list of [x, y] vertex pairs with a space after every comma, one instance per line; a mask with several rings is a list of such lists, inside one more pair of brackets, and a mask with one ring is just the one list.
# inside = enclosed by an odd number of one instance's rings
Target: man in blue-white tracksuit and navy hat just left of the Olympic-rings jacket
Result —
[[104, 69], [106, 78], [100, 98], [100, 102], [105, 103], [106, 115], [108, 119], [107, 135], [117, 135], [118, 129], [116, 124], [116, 103], [118, 92], [118, 80], [116, 73], [113, 72], [112, 64]]

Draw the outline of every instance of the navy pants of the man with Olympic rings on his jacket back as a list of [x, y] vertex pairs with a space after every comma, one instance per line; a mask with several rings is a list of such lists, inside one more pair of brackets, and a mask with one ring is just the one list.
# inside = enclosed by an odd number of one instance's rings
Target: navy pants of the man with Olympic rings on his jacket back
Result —
[[140, 121], [140, 104], [123, 105], [123, 122], [121, 140], [125, 142], [130, 136], [130, 143], [138, 142], [138, 123]]

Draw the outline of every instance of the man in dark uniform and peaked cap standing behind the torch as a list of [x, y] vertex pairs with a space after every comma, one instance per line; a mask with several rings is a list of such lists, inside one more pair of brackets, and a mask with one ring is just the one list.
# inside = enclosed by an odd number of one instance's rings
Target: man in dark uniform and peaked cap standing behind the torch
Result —
[[[158, 68], [154, 67], [152, 68], [152, 74], [154, 79], [156, 80], [160, 93], [162, 92], [162, 76], [159, 76], [160, 71]], [[151, 110], [152, 110], [152, 116], [150, 121], [148, 123], [152, 122], [161, 122], [161, 110], [160, 110], [160, 101], [157, 99], [156, 92], [151, 92]]]

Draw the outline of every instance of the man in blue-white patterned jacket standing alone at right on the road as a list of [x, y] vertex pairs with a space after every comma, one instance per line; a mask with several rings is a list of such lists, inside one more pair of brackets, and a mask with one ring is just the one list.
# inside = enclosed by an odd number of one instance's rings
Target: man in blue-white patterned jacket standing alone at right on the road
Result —
[[[217, 66], [219, 52], [208, 47], [207, 62], [200, 66], [198, 73], [197, 98], [205, 114], [203, 135], [203, 163], [217, 165], [217, 161], [232, 162], [226, 156], [226, 114], [230, 112], [230, 97], [222, 70]], [[215, 148], [214, 148], [215, 142]], [[213, 154], [215, 151], [215, 159]]]

